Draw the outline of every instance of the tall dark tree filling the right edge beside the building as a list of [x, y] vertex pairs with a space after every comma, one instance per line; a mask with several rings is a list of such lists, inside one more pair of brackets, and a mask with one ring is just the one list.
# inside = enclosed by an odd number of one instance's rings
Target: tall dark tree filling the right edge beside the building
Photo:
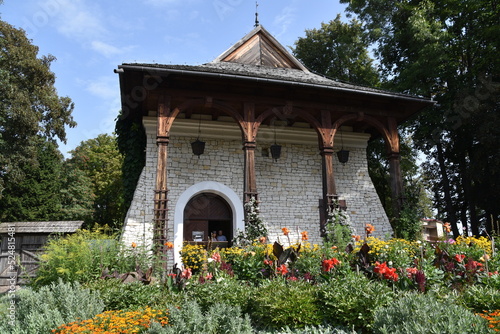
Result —
[[[495, 0], [341, 0], [377, 44], [387, 85], [438, 104], [413, 124], [442, 219], [498, 220], [500, 16]], [[492, 123], [493, 122], [493, 123]], [[498, 232], [498, 231], [497, 231]]]

